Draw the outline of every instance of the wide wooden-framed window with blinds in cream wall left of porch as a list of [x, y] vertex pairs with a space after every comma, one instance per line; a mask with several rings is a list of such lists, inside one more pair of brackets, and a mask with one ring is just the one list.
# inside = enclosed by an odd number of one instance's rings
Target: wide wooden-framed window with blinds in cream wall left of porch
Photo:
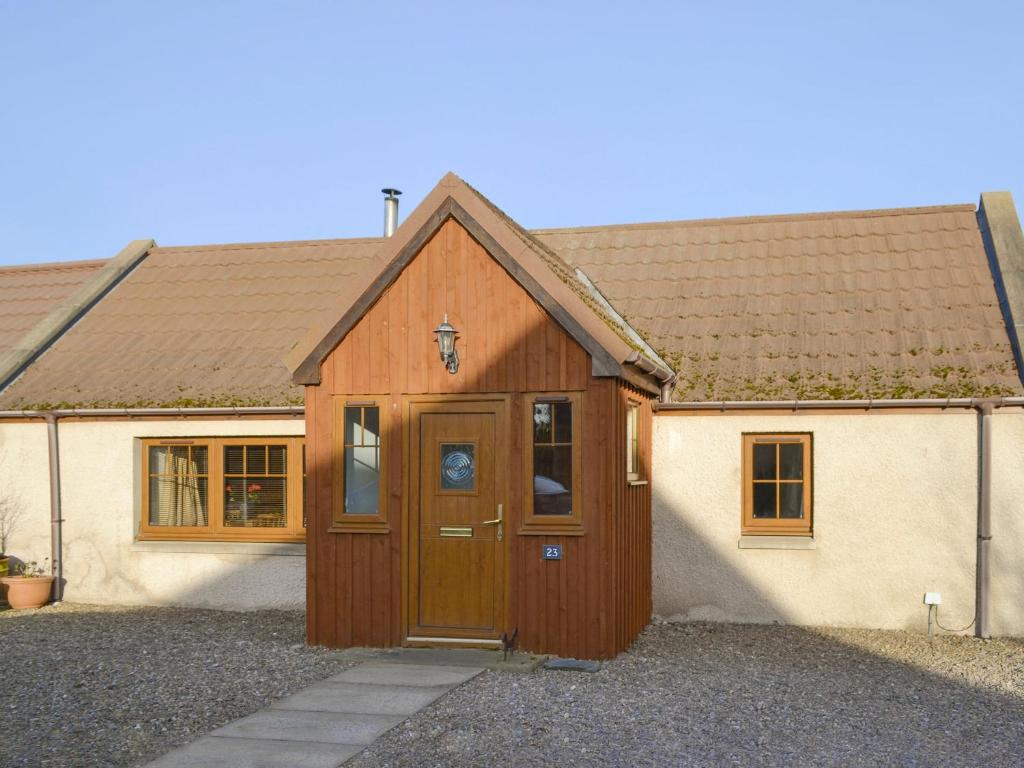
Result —
[[141, 540], [305, 540], [302, 437], [142, 440]]

